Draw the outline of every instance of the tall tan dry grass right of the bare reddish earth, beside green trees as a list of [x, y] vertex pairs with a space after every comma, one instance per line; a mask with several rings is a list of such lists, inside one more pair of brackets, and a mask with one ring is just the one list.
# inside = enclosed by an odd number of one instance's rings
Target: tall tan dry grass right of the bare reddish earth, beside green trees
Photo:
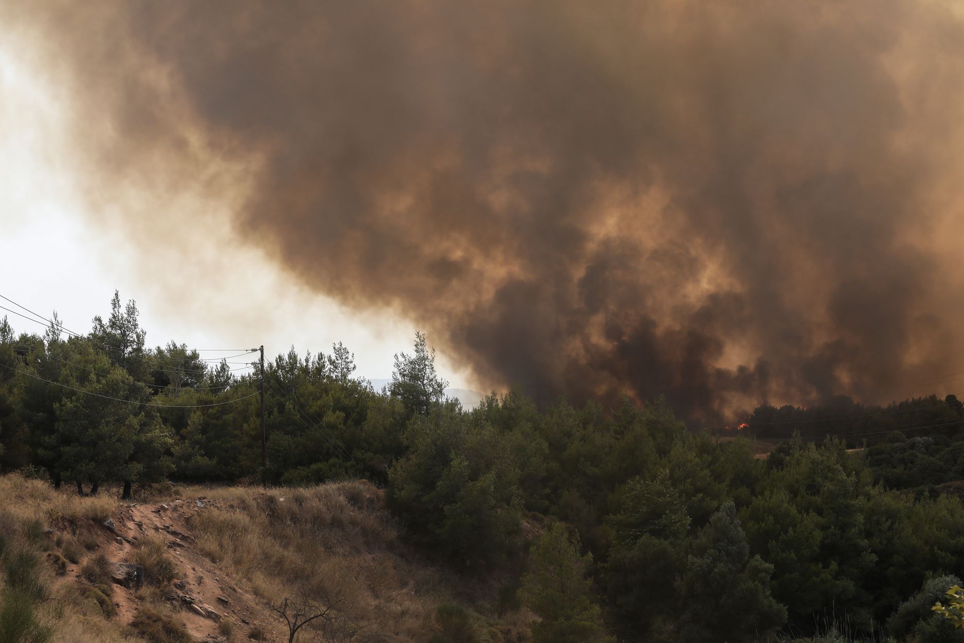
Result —
[[198, 549], [249, 578], [266, 601], [302, 594], [340, 600], [341, 616], [399, 642], [427, 641], [439, 630], [439, 605], [460, 598], [480, 623], [480, 643], [501, 640], [499, 629], [513, 640], [528, 629], [528, 616], [497, 616], [464, 578], [419, 561], [399, 543], [384, 496], [369, 483], [183, 490], [194, 493], [214, 505], [191, 516]]

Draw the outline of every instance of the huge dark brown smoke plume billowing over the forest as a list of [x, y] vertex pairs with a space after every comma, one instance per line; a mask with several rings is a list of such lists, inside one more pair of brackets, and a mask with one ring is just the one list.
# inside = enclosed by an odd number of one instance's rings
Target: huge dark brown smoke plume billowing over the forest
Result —
[[237, 162], [245, 238], [480, 386], [710, 421], [964, 368], [951, 5], [10, 5], [97, 199]]

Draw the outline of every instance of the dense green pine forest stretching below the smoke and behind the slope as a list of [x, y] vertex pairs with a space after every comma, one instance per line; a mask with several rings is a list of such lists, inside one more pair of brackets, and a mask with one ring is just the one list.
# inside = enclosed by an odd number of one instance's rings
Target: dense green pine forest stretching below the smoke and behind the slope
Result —
[[513, 389], [464, 409], [416, 334], [383, 391], [340, 344], [266, 362], [262, 468], [260, 374], [149, 348], [134, 303], [111, 308], [86, 335], [4, 318], [0, 468], [124, 496], [365, 478], [426, 556], [541, 616], [537, 641], [964, 641], [930, 610], [964, 570], [953, 396], [761, 407], [740, 432], [776, 442], [759, 457], [661, 400], [540, 409]]

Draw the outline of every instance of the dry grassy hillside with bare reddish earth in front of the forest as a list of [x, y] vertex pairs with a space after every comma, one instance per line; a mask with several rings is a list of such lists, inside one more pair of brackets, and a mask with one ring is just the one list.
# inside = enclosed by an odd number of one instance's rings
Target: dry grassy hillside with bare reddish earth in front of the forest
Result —
[[[499, 615], [495, 586], [401, 544], [382, 492], [364, 481], [173, 487], [119, 502], [11, 474], [0, 497], [7, 558], [42, 555], [38, 576], [53, 600], [40, 603], [40, 622], [54, 641], [288, 640], [269, 608], [285, 598], [333, 607], [321, 640], [423, 642], [455, 627], [446, 614], [467, 617], [481, 640], [528, 640], [530, 617]], [[124, 566], [138, 564], [143, 584], [125, 586]]]

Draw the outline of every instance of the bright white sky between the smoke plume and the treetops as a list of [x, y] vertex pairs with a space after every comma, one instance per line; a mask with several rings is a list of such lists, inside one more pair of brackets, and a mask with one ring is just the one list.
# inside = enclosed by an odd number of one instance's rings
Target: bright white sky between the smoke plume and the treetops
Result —
[[[357, 373], [368, 378], [388, 377], [393, 354], [411, 350], [411, 323], [312, 293], [245, 247], [229, 226], [209, 224], [202, 241], [165, 235], [169, 246], [133, 250], [122, 231], [84, 211], [87, 200], [72, 179], [79, 169], [69, 160], [76, 156], [64, 153], [63, 101], [39, 84], [29, 64], [0, 40], [0, 294], [44, 316], [56, 309], [68, 329], [86, 333], [95, 314], [109, 313], [119, 289], [122, 301], [137, 301], [152, 346], [169, 339], [196, 348], [263, 343], [274, 356], [291, 345], [327, 353], [342, 341], [355, 353]], [[42, 332], [4, 314], [18, 332]], [[467, 374], [445, 356], [438, 365], [451, 386], [470, 388]]]

